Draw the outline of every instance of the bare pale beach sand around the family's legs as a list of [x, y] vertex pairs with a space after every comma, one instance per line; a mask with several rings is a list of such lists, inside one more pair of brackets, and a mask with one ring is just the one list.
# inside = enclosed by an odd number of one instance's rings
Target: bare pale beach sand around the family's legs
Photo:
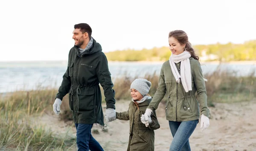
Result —
[[[116, 111], [126, 111], [129, 101], [117, 101]], [[105, 104], [103, 104], [105, 113]], [[189, 139], [192, 151], [256, 151], [256, 100], [241, 103], [216, 103], [210, 108], [210, 126], [201, 131], [200, 123]], [[172, 135], [165, 118], [164, 105], [157, 109], [160, 129], [155, 131], [155, 151], [169, 151]], [[58, 115], [45, 114], [38, 124], [47, 123], [55, 134], [65, 134], [70, 128], [67, 123], [58, 121]], [[199, 121], [200, 122], [200, 121]], [[72, 122], [71, 122], [72, 123]], [[93, 137], [99, 141], [105, 151], [126, 151], [129, 136], [129, 121], [115, 120], [107, 128], [93, 125]], [[76, 136], [76, 129], [69, 133]], [[73, 147], [72, 150], [75, 149]]]

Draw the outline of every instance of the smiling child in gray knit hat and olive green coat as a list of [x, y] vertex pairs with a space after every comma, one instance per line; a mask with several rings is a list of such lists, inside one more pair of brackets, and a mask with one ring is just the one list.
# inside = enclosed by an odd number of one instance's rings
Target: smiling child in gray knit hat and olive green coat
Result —
[[154, 151], [154, 130], [160, 128], [156, 113], [153, 111], [150, 121], [145, 124], [140, 119], [152, 99], [148, 95], [150, 87], [151, 82], [146, 79], [134, 80], [131, 83], [132, 101], [129, 104], [128, 111], [116, 112], [117, 119], [130, 120], [130, 137], [127, 151]]

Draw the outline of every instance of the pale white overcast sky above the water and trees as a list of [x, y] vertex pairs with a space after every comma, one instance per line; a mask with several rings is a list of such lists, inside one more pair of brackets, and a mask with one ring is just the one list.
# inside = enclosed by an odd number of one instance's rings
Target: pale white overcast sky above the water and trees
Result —
[[1, 0], [0, 61], [67, 60], [73, 26], [88, 23], [103, 52], [256, 39], [256, 0]]

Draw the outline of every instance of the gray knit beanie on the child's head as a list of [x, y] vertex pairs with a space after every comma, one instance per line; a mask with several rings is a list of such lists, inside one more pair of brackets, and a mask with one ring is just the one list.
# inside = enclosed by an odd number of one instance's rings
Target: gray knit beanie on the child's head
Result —
[[[140, 94], [144, 97], [146, 94], [148, 94], [148, 91], [151, 87], [151, 82], [146, 79], [135, 79], [131, 83], [131, 88], [136, 89], [140, 92]], [[130, 89], [131, 89], [130, 88]]]

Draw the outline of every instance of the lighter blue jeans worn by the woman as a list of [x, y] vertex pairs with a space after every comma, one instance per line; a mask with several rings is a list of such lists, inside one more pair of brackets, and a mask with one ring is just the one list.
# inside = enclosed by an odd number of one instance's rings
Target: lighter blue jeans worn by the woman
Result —
[[198, 120], [174, 122], [169, 121], [172, 132], [172, 143], [169, 151], [191, 151], [189, 137], [196, 128]]

